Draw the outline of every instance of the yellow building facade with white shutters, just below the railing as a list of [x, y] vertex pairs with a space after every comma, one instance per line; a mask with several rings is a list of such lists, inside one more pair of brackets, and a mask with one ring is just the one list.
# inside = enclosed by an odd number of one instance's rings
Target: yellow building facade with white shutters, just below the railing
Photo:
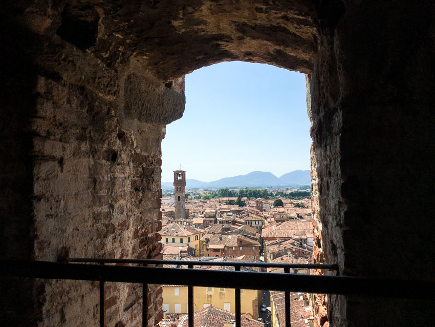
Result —
[[[235, 290], [221, 288], [194, 287], [193, 311], [206, 308], [208, 305], [235, 313]], [[163, 285], [163, 311], [168, 313], [187, 314], [187, 286]], [[248, 313], [249, 318], [258, 319], [258, 299], [261, 291], [241, 290], [241, 312]]]

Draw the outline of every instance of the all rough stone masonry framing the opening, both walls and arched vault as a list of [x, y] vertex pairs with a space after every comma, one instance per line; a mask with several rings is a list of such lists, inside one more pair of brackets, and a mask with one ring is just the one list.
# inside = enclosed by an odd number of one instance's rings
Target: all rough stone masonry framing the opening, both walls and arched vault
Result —
[[[314, 261], [337, 263], [341, 275], [435, 278], [431, 1], [22, 0], [2, 9], [0, 258], [156, 257], [160, 145], [183, 114], [183, 76], [243, 60], [307, 74]], [[6, 325], [98, 324], [94, 283], [0, 288]], [[107, 285], [107, 326], [140, 324], [140, 291]], [[158, 286], [148, 299], [154, 326]], [[431, 308], [319, 295], [315, 321], [423, 325]]]

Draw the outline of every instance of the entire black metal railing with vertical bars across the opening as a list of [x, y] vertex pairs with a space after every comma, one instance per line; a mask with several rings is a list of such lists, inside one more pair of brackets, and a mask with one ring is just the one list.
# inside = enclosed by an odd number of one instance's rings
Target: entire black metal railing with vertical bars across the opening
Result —
[[[88, 264], [83, 264], [88, 263]], [[113, 263], [135, 264], [110, 265]], [[188, 269], [149, 267], [149, 265], [187, 265]], [[234, 267], [234, 271], [193, 269], [195, 265]], [[281, 273], [244, 272], [241, 267], [283, 268]], [[323, 269], [337, 271], [335, 264], [295, 264], [230, 261], [179, 261], [140, 259], [71, 258], [68, 263], [48, 261], [0, 260], [0, 276], [43, 279], [99, 281], [100, 326], [104, 326], [104, 283], [141, 283], [143, 291], [142, 325], [147, 319], [147, 285], [179, 284], [188, 286], [188, 326], [193, 327], [193, 287], [235, 289], [235, 325], [241, 326], [240, 290], [270, 290], [285, 292], [286, 327], [290, 326], [290, 292], [343, 294], [370, 297], [432, 299], [434, 281], [374, 279], [348, 276], [315, 276], [290, 274], [290, 269]]]

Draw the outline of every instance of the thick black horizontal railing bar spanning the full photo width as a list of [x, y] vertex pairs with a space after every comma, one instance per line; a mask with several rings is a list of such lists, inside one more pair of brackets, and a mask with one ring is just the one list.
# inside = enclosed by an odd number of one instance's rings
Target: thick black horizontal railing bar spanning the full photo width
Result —
[[435, 281], [0, 260], [0, 276], [433, 300]]

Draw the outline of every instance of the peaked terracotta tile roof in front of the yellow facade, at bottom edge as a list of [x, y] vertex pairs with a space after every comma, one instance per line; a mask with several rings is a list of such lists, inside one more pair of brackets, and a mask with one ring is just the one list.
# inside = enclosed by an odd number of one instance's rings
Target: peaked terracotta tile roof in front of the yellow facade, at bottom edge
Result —
[[[242, 327], [263, 327], [263, 322], [242, 317]], [[194, 327], [224, 327], [224, 323], [235, 322], [235, 315], [231, 312], [216, 308], [213, 305], [194, 312]], [[187, 327], [187, 318], [173, 322], [180, 327]]]

